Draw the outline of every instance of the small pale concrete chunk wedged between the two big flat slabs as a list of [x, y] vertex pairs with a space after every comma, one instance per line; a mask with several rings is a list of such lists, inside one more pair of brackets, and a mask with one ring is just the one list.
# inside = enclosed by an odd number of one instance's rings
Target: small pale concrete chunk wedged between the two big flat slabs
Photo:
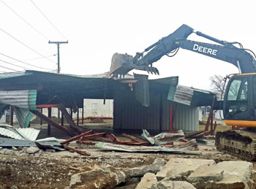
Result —
[[195, 169], [195, 171], [187, 177], [187, 181], [191, 183], [208, 180], [218, 182], [223, 179], [223, 173], [224, 169], [220, 166], [203, 165]]

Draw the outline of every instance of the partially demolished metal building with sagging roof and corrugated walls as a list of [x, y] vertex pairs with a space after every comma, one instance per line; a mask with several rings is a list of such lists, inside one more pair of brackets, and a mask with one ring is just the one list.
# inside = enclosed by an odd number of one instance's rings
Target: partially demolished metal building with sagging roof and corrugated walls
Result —
[[116, 131], [198, 131], [197, 107], [211, 105], [213, 97], [214, 93], [178, 85], [178, 77], [148, 80], [135, 74], [114, 80], [106, 74], [37, 71], [0, 75], [1, 115], [12, 105], [21, 127], [29, 125], [31, 112], [40, 107], [62, 104], [77, 112], [83, 109], [83, 99], [102, 99], [103, 104], [113, 99]]

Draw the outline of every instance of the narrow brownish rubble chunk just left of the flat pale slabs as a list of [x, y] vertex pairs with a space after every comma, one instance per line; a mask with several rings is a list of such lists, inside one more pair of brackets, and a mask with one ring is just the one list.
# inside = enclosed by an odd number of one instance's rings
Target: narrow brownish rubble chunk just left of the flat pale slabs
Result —
[[160, 171], [163, 166], [165, 166], [165, 163], [166, 163], [166, 161], [164, 159], [157, 158], [154, 160], [154, 162], [151, 165], [139, 166], [139, 167], [135, 167], [132, 169], [127, 169], [124, 172], [129, 177], [140, 177], [146, 173], [157, 174], [157, 172]]

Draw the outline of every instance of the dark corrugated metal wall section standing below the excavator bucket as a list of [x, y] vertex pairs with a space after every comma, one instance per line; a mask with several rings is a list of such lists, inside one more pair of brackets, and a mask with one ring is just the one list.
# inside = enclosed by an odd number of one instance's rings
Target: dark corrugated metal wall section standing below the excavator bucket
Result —
[[117, 90], [114, 93], [114, 128], [115, 129], [146, 129], [159, 131], [160, 98], [162, 96], [162, 131], [169, 130], [170, 101], [166, 95], [150, 93], [150, 107], [143, 107], [135, 99], [135, 93]]

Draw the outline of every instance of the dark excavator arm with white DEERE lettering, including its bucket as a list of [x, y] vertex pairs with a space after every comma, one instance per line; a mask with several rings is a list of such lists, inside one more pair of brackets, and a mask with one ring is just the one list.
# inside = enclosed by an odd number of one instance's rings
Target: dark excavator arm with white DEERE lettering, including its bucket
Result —
[[[192, 33], [217, 42], [219, 45], [188, 40], [187, 37]], [[110, 74], [116, 77], [118, 74], [127, 74], [132, 69], [140, 69], [151, 72], [151, 74], [159, 74], [159, 71], [152, 66], [152, 63], [159, 61], [164, 55], [176, 55], [179, 47], [232, 63], [238, 67], [241, 73], [256, 72], [255, 57], [251, 53], [248, 53], [240, 43], [237, 43], [240, 45], [240, 48], [234, 44], [221, 41], [200, 31], [194, 32], [189, 26], [182, 25], [173, 34], [163, 37], [158, 42], [146, 48], [143, 53], [136, 53], [135, 57], [115, 53], [112, 58]]]

